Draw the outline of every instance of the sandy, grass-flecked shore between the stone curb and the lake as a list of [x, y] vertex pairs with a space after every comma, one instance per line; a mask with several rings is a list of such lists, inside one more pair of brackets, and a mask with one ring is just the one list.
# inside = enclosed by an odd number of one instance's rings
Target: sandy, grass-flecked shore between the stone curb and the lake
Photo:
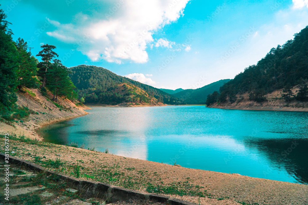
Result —
[[[308, 185], [304, 184], [190, 169], [64, 145], [49, 143], [40, 145], [40, 143], [11, 141], [11, 144], [14, 144], [14, 156], [29, 161], [33, 161], [34, 157], [53, 161], [60, 159], [64, 162], [61, 168], [64, 174], [72, 175], [76, 160], [82, 159], [80, 179], [105, 182], [139, 191], [147, 191], [152, 184], [152, 186], [178, 187], [187, 191], [199, 190], [206, 193], [207, 196], [200, 198], [171, 195], [197, 204], [305, 205], [308, 203]], [[118, 172], [121, 174], [116, 181], [111, 182], [110, 178], [107, 178], [110, 176], [104, 177], [102, 173], [112, 170], [115, 164], [118, 165]]]

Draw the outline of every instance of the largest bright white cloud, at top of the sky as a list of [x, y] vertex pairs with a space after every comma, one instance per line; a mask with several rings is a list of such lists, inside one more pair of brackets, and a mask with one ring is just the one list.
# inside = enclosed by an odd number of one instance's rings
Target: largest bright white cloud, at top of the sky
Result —
[[[104, 59], [117, 63], [122, 63], [123, 60], [145, 63], [148, 61], [146, 49], [154, 41], [152, 34], [183, 16], [189, 1], [123, 1], [121, 12], [108, 15], [108, 18], [102, 14], [101, 18], [94, 19], [79, 13], [76, 16], [80, 18], [74, 24], [50, 20], [56, 30], [47, 35], [76, 44], [77, 50], [92, 61]], [[172, 47], [172, 42], [167, 42], [166, 39], [157, 43], [159, 46]]]

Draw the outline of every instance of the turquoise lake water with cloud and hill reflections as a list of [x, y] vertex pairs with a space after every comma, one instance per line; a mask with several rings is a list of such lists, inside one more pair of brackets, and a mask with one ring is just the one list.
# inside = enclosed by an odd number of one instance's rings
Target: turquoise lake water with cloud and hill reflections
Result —
[[182, 167], [308, 181], [308, 113], [204, 106], [93, 107], [39, 130], [46, 142]]

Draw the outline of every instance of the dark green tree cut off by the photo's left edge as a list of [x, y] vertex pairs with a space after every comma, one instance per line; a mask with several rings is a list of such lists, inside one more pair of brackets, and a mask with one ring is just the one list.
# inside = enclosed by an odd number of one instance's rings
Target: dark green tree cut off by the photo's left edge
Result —
[[0, 103], [9, 106], [17, 101], [14, 93], [17, 82], [17, 49], [12, 41], [10, 24], [6, 14], [0, 9]]

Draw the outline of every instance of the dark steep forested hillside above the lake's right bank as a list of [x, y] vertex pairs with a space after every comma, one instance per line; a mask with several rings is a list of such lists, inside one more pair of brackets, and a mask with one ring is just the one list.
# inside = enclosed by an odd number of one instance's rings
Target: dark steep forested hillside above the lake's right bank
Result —
[[[288, 100], [308, 101], [308, 26], [294, 39], [270, 49], [257, 65], [245, 68], [233, 80], [209, 96], [207, 104], [235, 102], [236, 95], [249, 93], [249, 100], [262, 102], [265, 94], [283, 89], [282, 97]], [[293, 93], [294, 86], [299, 87]]]

